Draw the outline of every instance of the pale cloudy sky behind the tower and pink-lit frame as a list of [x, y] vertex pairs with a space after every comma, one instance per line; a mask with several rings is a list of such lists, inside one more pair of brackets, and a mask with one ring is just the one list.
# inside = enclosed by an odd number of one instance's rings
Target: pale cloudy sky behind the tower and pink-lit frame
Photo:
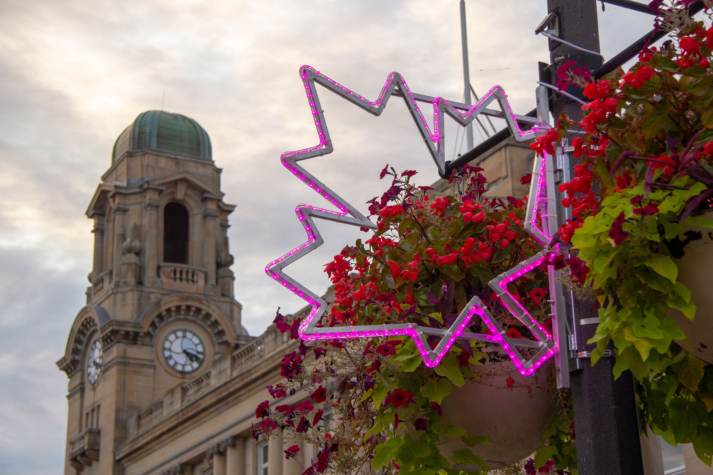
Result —
[[[534, 106], [535, 36], [545, 0], [466, 0], [471, 82]], [[650, 18], [600, 11], [610, 58]], [[118, 134], [139, 113], [188, 115], [210, 134], [232, 214], [235, 295], [260, 335], [277, 306], [302, 302], [265, 264], [304, 241], [294, 206], [326, 205], [279, 165], [316, 145], [298, 69], [309, 64], [376, 98], [398, 71], [411, 90], [460, 101], [457, 0], [0, 1], [0, 474], [56, 474], [66, 438], [63, 355], [85, 302], [92, 224], [84, 212]], [[320, 89], [334, 153], [306, 167], [354, 204], [380, 194], [379, 170], [436, 170], [403, 102], [375, 118]], [[497, 126], [497, 124], [496, 124]], [[448, 159], [461, 145], [449, 126]], [[476, 133], [476, 140], [480, 137]], [[359, 232], [321, 224], [326, 244], [289, 269], [321, 292], [322, 264]]]

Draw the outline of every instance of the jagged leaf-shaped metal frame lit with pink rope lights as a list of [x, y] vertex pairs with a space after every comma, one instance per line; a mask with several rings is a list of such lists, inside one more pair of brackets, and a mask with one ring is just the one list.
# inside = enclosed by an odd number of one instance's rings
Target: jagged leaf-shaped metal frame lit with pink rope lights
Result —
[[[524, 140], [529, 140], [535, 137], [540, 132], [540, 128], [548, 127], [548, 114], [547, 108], [547, 98], [546, 93], [543, 92], [544, 88], [538, 88], [538, 118], [530, 118], [523, 115], [515, 115], [508, 103], [507, 96], [503, 92], [500, 86], [495, 86], [483, 96], [481, 100], [475, 105], [466, 105], [455, 102], [448, 102], [443, 98], [431, 97], [427, 95], [411, 93], [406, 81], [399, 73], [391, 73], [389, 78], [387, 78], [384, 87], [381, 89], [379, 98], [374, 101], [366, 100], [363, 96], [354, 93], [354, 91], [345, 88], [336, 81], [327, 78], [327, 76], [315, 71], [314, 68], [310, 66], [302, 66], [299, 70], [300, 77], [304, 83], [304, 89], [307, 93], [307, 99], [309, 101], [309, 107], [312, 110], [312, 116], [314, 118], [314, 125], [317, 127], [317, 135], [319, 136], [319, 144], [314, 147], [309, 147], [303, 150], [297, 150], [294, 152], [285, 152], [282, 154], [281, 160], [282, 164], [289, 169], [292, 174], [299, 178], [302, 182], [307, 184], [322, 195], [328, 202], [332, 203], [339, 212], [330, 211], [328, 209], [322, 209], [318, 207], [313, 207], [307, 204], [299, 204], [295, 209], [299, 221], [302, 222], [304, 230], [307, 232], [307, 241], [297, 248], [289, 251], [289, 253], [284, 254], [284, 256], [279, 257], [275, 261], [270, 262], [265, 268], [265, 272], [268, 276], [275, 279], [283, 286], [289, 288], [294, 294], [307, 301], [312, 306], [312, 311], [309, 313], [307, 318], [302, 321], [299, 326], [298, 333], [302, 340], [320, 340], [320, 339], [334, 339], [334, 338], [370, 338], [370, 337], [384, 337], [391, 335], [409, 335], [414, 339], [421, 357], [424, 360], [424, 364], [429, 367], [434, 367], [438, 365], [444, 355], [448, 353], [448, 350], [455, 342], [456, 338], [468, 338], [473, 340], [480, 340], [489, 343], [498, 343], [506, 351], [515, 367], [523, 375], [529, 375], [535, 372], [540, 365], [542, 365], [545, 360], [551, 355], [555, 354], [558, 350], [558, 344], [550, 337], [547, 331], [542, 328], [528, 313], [523, 306], [515, 301], [511, 294], [507, 290], [507, 284], [515, 278], [523, 275], [533, 268], [539, 266], [545, 259], [545, 254], [541, 252], [533, 256], [532, 258], [518, 264], [506, 273], [501, 274], [497, 278], [493, 279], [488, 283], [491, 288], [493, 288], [498, 296], [500, 296], [503, 304], [508, 308], [508, 310], [515, 315], [518, 320], [523, 322], [535, 335], [538, 341], [524, 340], [524, 339], [513, 339], [508, 338], [506, 332], [503, 330], [498, 321], [493, 318], [491, 313], [488, 311], [486, 305], [478, 297], [473, 297], [471, 301], [468, 302], [463, 311], [461, 311], [456, 321], [451, 325], [451, 328], [441, 329], [441, 328], [429, 328], [421, 327], [415, 323], [403, 323], [403, 324], [391, 324], [391, 325], [361, 325], [361, 326], [346, 326], [346, 327], [332, 327], [332, 328], [317, 328], [315, 325], [317, 321], [322, 316], [327, 308], [327, 303], [317, 296], [314, 292], [310, 291], [302, 284], [295, 281], [290, 276], [284, 273], [283, 269], [289, 266], [290, 263], [297, 261], [297, 259], [305, 256], [310, 251], [317, 249], [324, 243], [322, 236], [319, 234], [317, 226], [314, 224], [313, 218], [327, 219], [329, 221], [337, 221], [344, 224], [351, 224], [352, 226], [360, 226], [369, 229], [376, 229], [376, 225], [372, 223], [364, 214], [361, 214], [356, 208], [352, 207], [346, 200], [339, 197], [331, 189], [325, 186], [312, 174], [307, 172], [302, 166], [297, 162], [301, 160], [307, 160], [308, 158], [327, 155], [332, 152], [332, 141], [329, 138], [329, 131], [327, 130], [327, 124], [324, 120], [324, 110], [322, 110], [319, 104], [319, 96], [317, 95], [317, 90], [314, 87], [314, 83], [319, 83], [323, 85], [328, 90], [331, 90], [343, 98], [349, 100], [350, 103], [358, 105], [360, 108], [366, 110], [367, 112], [379, 116], [381, 112], [386, 107], [386, 103], [389, 98], [394, 95], [396, 97], [404, 98], [406, 107], [409, 108], [411, 117], [414, 118], [416, 122], [416, 127], [419, 128], [421, 132], [421, 137], [424, 138], [426, 142], [426, 147], [428, 147], [431, 157], [438, 167], [438, 171], [445, 172], [445, 128], [443, 124], [443, 113], [447, 113], [456, 122], [459, 122], [463, 127], [468, 125], [469, 122], [473, 121], [478, 115], [491, 115], [493, 117], [503, 118], [506, 120], [508, 127], [511, 132], [513, 132], [513, 137], [518, 142]], [[501, 110], [488, 109], [487, 106], [493, 101], [497, 101]], [[426, 123], [424, 115], [421, 113], [417, 102], [431, 103], [434, 108], [434, 132], [432, 133], [429, 125]], [[525, 123], [533, 125], [531, 130], [523, 130], [520, 128], [519, 123]], [[535, 173], [536, 172], [536, 173]], [[550, 229], [556, 229], [556, 216], [554, 226], [550, 224], [550, 198], [549, 196], [554, 196], [554, 194], [546, 194], [549, 191], [547, 188], [553, 187], [553, 180], [547, 179], [545, 174], [550, 174], [551, 171], [545, 170], [541, 160], [535, 160], [535, 167], [533, 169], [533, 192], [531, 192], [531, 197], [528, 202], [528, 219], [525, 225], [525, 229], [528, 233], [532, 234], [535, 239], [545, 246], [550, 240], [551, 234], [548, 232]], [[550, 176], [548, 175], [548, 176]], [[547, 186], [545, 186], [547, 185]], [[540, 214], [541, 221], [545, 224], [547, 229], [541, 230], [537, 227], [536, 219], [537, 214]], [[556, 212], [555, 212], [556, 214]], [[550, 267], [550, 274], [551, 272]], [[551, 278], [550, 278], [551, 281]], [[478, 315], [486, 326], [491, 331], [492, 335], [484, 335], [479, 333], [469, 333], [463, 332], [465, 328], [471, 322], [473, 315]], [[439, 335], [441, 336], [441, 341], [438, 343], [436, 348], [431, 350], [429, 345], [426, 343], [426, 335]], [[530, 360], [525, 360], [521, 353], [515, 349], [515, 346], [523, 346], [530, 348], [539, 348], [539, 351]]]

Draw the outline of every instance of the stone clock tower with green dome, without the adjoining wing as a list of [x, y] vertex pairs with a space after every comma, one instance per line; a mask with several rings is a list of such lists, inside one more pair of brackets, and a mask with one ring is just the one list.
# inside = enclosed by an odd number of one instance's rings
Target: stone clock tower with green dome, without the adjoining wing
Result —
[[66, 474], [119, 474], [114, 451], [138, 434], [138, 414], [203, 373], [218, 377], [252, 340], [233, 296], [235, 206], [220, 172], [207, 132], [183, 115], [150, 110], [116, 140], [86, 212], [87, 303], [57, 362], [69, 378]]

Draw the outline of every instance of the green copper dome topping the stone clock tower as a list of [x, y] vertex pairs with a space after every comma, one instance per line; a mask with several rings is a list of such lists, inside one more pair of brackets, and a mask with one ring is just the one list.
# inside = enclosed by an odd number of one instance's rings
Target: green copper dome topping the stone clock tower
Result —
[[210, 137], [203, 127], [185, 115], [163, 110], [148, 110], [139, 114], [116, 139], [111, 162], [125, 152], [147, 149], [212, 160]]

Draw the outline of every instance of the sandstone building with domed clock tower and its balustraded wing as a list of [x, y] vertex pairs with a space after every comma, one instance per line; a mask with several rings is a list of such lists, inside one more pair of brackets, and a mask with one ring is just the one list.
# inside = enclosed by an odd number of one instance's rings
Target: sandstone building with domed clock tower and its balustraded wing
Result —
[[116, 140], [86, 212], [86, 306], [57, 362], [69, 378], [66, 474], [302, 473], [282, 441], [250, 437], [294, 341], [241, 325], [220, 172], [183, 115], [148, 111]]

